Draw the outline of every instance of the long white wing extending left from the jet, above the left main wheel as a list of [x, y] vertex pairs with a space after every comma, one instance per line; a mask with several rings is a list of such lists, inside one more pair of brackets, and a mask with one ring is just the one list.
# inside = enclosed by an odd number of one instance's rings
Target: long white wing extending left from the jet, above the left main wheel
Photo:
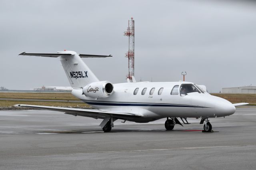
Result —
[[78, 115], [84, 117], [92, 117], [94, 119], [104, 119], [106, 117], [113, 117], [116, 119], [133, 119], [141, 117], [133, 113], [115, 112], [115, 111], [103, 111], [98, 109], [76, 109], [68, 107], [50, 107], [50, 106], [37, 106], [37, 105], [14, 105], [18, 107], [28, 107], [32, 109], [43, 109], [50, 111], [64, 112], [69, 115]]

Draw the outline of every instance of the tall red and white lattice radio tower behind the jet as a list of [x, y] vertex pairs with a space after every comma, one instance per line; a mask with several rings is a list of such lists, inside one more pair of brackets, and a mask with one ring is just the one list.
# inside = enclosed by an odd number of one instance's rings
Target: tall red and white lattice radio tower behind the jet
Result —
[[126, 79], [130, 80], [130, 82], [135, 81], [132, 80], [134, 77], [134, 20], [128, 20], [128, 28], [127, 31], [124, 32], [124, 36], [128, 36], [129, 46], [128, 52], [126, 53], [126, 57], [128, 57], [128, 75], [126, 75]]

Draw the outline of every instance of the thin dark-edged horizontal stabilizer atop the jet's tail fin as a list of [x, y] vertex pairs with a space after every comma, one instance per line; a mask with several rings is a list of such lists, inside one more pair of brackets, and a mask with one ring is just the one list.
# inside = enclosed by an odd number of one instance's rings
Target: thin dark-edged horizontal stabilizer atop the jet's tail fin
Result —
[[[40, 56], [40, 57], [59, 57], [59, 56], [68, 56], [68, 55], [74, 55], [71, 53], [20, 53], [19, 55], [30, 55], [30, 56]], [[112, 55], [92, 55], [92, 54], [78, 54], [80, 57], [112, 57]]]

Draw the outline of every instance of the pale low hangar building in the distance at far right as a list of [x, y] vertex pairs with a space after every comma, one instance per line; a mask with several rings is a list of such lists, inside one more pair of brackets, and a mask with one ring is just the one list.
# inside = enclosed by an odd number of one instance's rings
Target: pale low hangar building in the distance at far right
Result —
[[222, 88], [222, 93], [256, 93], [256, 86]]

